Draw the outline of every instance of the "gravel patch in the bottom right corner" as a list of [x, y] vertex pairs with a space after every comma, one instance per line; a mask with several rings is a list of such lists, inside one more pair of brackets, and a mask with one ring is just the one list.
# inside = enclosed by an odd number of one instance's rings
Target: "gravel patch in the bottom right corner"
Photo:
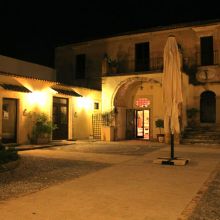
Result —
[[220, 220], [220, 166], [189, 220]]

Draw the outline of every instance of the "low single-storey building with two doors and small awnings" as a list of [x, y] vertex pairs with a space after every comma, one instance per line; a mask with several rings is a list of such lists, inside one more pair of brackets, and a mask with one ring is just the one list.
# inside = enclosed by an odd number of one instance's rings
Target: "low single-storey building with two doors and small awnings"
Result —
[[53, 140], [87, 139], [92, 115], [100, 111], [100, 91], [56, 81], [52, 68], [0, 56], [0, 138], [3, 143], [30, 143], [36, 115], [57, 125]]

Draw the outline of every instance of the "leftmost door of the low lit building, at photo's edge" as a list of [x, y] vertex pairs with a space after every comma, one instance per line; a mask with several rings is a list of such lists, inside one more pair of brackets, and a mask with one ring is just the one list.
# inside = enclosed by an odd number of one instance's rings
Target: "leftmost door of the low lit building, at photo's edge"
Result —
[[17, 99], [3, 98], [2, 143], [17, 142]]

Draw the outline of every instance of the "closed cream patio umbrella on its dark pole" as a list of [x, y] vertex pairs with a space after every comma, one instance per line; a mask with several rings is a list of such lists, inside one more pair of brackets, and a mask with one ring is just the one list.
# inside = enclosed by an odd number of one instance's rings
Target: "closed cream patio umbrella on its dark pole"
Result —
[[179, 105], [183, 102], [181, 56], [174, 36], [169, 36], [164, 47], [163, 104], [164, 132], [171, 134], [171, 159], [174, 159], [174, 133], [180, 134]]

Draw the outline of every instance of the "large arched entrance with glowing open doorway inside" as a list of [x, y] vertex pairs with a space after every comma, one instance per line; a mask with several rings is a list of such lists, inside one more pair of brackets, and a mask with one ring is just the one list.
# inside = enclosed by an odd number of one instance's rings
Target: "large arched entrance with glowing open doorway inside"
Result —
[[113, 95], [113, 106], [118, 111], [115, 124], [118, 140], [152, 137], [153, 97], [160, 97], [158, 90], [161, 82], [147, 77], [121, 81]]

